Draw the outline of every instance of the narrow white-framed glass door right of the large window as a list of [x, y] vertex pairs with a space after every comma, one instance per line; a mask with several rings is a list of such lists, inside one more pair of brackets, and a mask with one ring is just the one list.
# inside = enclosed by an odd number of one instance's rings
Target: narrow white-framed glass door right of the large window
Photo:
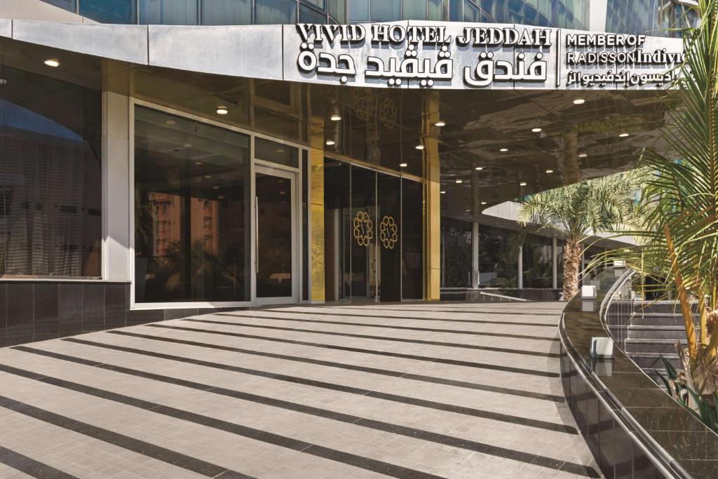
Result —
[[298, 302], [296, 173], [255, 167], [254, 301]]

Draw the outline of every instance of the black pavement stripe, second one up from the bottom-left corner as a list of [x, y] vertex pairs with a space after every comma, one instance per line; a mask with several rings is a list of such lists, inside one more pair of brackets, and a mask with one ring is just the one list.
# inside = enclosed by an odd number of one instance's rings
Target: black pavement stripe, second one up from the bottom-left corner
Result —
[[[34, 374], [33, 379], [42, 378], [42, 374]], [[197, 459], [196, 457], [187, 456], [180, 452], [175, 452], [158, 445], [144, 442], [134, 437], [129, 437], [118, 432], [110, 431], [109, 429], [103, 429], [102, 427], [93, 426], [85, 422], [80, 422], [76, 419], [72, 419], [67, 416], [55, 414], [39, 407], [31, 406], [20, 401], [15, 401], [5, 396], [0, 396], [0, 407], [10, 409], [11, 411], [24, 414], [25, 416], [39, 419], [40, 421], [47, 422], [62, 429], [68, 429], [85, 436], [93, 437], [94, 439], [108, 442], [109, 444], [122, 447], [123, 449], [137, 452], [138, 454], [153, 457], [154, 459], [167, 462], [168, 464], [176, 465], [179, 468], [191, 470], [193, 473], [201, 474], [214, 478], [224, 473], [230, 473], [230, 475], [224, 475], [222, 477], [236, 477], [236, 478], [247, 478], [251, 479], [251, 476], [236, 473], [230, 471], [227, 468], [212, 464], [211, 462], [205, 462]]]

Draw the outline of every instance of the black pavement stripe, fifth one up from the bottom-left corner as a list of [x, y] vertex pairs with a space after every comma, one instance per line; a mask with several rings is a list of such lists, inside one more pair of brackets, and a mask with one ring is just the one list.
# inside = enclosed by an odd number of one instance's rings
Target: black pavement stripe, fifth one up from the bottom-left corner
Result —
[[[457, 406], [455, 404], [446, 404], [437, 401], [427, 401], [409, 396], [399, 396], [398, 394], [383, 393], [381, 391], [371, 391], [370, 389], [356, 388], [354, 386], [345, 386], [343, 384], [327, 383], [325, 381], [316, 381], [314, 379], [299, 378], [297, 376], [288, 376], [280, 373], [270, 373], [269, 371], [258, 371], [256, 369], [243, 368], [241, 366], [231, 366], [223, 363], [213, 363], [211, 361], [202, 361], [200, 359], [185, 358], [171, 354], [157, 353], [144, 349], [128, 348], [126, 346], [111, 345], [106, 343], [97, 343], [95, 341], [78, 340], [75, 338], [65, 338], [64, 341], [70, 343], [79, 343], [98, 348], [106, 348], [112, 350], [123, 351], [126, 353], [134, 353], [148, 355], [154, 358], [169, 359], [171, 361], [180, 361], [182, 363], [196, 364], [197, 366], [205, 366], [208, 368], [223, 369], [235, 373], [248, 374], [250, 376], [259, 376], [261, 378], [274, 379], [276, 381], [286, 381], [294, 384], [302, 384], [304, 386], [312, 386], [315, 388], [329, 389], [330, 391], [339, 391], [347, 394], [358, 394], [359, 396], [368, 396], [375, 399], [385, 399], [386, 401], [397, 402], [401, 404], [411, 404], [412, 406], [425, 407], [427, 409], [437, 409], [438, 411], [453, 412], [456, 414], [464, 414], [465, 416], [481, 417], [483, 419], [493, 419], [495, 421], [509, 422], [512, 424], [521, 424], [528, 427], [536, 427], [538, 429], [546, 429], [549, 431], [566, 432], [567, 434], [578, 434], [574, 427], [566, 424], [558, 424], [555, 422], [539, 421], [538, 419], [525, 419], [523, 417], [511, 416], [510, 414], [500, 414], [498, 412], [484, 411], [482, 409], [474, 409], [465, 406]], [[18, 350], [24, 350], [25, 346], [14, 346]]]

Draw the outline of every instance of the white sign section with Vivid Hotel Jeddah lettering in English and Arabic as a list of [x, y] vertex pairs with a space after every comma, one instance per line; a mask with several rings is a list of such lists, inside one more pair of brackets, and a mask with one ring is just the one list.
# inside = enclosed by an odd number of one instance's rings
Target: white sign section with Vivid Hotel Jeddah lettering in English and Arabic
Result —
[[684, 60], [681, 39], [645, 35], [406, 22], [284, 28], [285, 79], [313, 83], [656, 89], [671, 83]]

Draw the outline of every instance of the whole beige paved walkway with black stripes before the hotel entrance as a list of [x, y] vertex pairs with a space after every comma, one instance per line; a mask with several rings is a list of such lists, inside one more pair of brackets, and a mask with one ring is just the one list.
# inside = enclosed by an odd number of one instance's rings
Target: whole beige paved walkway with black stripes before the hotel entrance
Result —
[[0, 477], [599, 477], [562, 306], [275, 307], [0, 348]]

